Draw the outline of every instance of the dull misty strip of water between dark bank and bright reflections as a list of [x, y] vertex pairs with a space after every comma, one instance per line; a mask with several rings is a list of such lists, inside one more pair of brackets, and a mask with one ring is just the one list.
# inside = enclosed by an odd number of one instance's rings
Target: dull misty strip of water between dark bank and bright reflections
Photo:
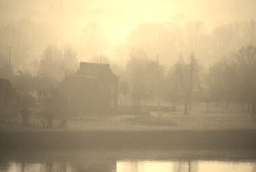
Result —
[[[9, 160], [70, 160], [83, 157], [95, 160], [256, 160], [256, 150], [6, 150], [1, 157]], [[0, 158], [1, 158], [0, 157]]]

